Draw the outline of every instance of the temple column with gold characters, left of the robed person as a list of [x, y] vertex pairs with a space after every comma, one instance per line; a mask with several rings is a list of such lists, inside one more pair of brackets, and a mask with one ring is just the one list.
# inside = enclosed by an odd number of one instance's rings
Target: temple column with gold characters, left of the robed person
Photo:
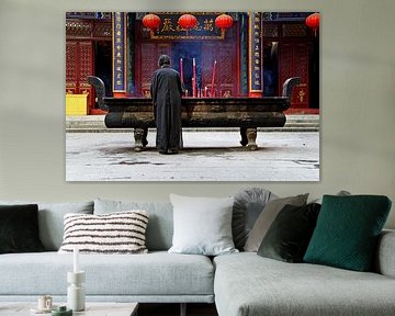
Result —
[[113, 95], [126, 95], [126, 14], [113, 12], [112, 16], [113, 44]]

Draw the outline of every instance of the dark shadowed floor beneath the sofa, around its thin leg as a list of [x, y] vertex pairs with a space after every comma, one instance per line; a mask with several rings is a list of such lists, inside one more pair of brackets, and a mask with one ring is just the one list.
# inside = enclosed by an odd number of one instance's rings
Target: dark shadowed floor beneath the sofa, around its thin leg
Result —
[[[180, 304], [145, 304], [138, 306], [138, 316], [179, 316]], [[188, 316], [218, 316], [214, 304], [187, 304]]]

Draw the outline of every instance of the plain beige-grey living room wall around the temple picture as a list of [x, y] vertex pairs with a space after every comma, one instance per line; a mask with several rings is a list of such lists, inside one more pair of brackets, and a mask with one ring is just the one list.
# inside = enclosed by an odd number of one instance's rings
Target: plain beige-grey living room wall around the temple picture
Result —
[[[66, 182], [66, 11], [319, 11], [319, 182]], [[311, 198], [347, 190], [395, 203], [395, 2], [2, 0], [0, 200], [168, 200], [226, 196], [247, 187]], [[132, 136], [131, 136], [132, 137]], [[393, 207], [395, 208], [395, 206]], [[395, 228], [395, 210], [387, 227]]]

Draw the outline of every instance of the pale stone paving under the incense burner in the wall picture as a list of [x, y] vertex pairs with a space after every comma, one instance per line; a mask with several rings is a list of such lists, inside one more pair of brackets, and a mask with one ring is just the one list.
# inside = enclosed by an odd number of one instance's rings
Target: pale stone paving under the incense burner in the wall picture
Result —
[[258, 150], [238, 132], [183, 132], [178, 155], [146, 150], [132, 133], [66, 133], [66, 181], [319, 181], [319, 133], [258, 133]]

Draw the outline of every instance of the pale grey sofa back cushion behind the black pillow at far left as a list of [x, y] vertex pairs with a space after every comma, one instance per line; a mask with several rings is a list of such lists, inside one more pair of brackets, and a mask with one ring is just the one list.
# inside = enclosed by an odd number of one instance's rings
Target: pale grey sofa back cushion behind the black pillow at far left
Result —
[[37, 204], [40, 239], [46, 251], [57, 251], [63, 241], [64, 216], [67, 213], [92, 214], [93, 202], [23, 202], [0, 201], [0, 205]]

